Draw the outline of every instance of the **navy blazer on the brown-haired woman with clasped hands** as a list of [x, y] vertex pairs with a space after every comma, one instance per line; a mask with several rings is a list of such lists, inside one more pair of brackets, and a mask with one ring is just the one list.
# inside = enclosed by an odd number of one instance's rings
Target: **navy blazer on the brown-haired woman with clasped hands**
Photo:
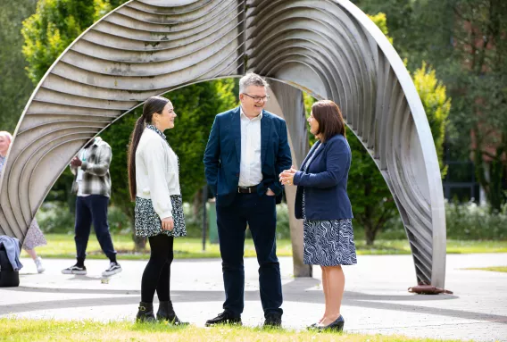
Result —
[[352, 219], [352, 206], [347, 196], [347, 179], [352, 153], [344, 136], [337, 134], [322, 143], [317, 141], [301, 164], [308, 162], [308, 157], [315, 152], [312, 163], [306, 172], [297, 171], [294, 184], [295, 217], [308, 220], [342, 220]]

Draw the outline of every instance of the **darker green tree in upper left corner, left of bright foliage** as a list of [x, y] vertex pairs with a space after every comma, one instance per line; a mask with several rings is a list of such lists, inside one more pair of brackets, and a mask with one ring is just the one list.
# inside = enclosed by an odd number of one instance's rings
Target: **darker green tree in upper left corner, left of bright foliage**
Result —
[[36, 0], [0, 2], [0, 130], [13, 132], [33, 89], [21, 54], [21, 22], [35, 13]]

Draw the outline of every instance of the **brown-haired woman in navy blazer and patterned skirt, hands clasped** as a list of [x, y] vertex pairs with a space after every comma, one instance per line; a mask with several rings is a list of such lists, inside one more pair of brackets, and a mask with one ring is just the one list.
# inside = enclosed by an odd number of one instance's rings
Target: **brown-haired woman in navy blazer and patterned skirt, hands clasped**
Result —
[[303, 219], [303, 261], [320, 265], [325, 312], [312, 329], [344, 328], [340, 306], [345, 289], [341, 265], [356, 263], [352, 206], [347, 196], [351, 150], [345, 122], [337, 104], [319, 101], [308, 118], [317, 142], [301, 165], [280, 174], [280, 182], [297, 186], [295, 217]]

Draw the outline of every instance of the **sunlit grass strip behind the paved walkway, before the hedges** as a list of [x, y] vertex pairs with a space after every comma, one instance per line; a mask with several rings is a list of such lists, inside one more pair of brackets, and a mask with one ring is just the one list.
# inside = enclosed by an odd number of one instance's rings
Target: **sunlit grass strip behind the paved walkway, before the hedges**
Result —
[[[74, 258], [76, 246], [74, 237], [66, 234], [47, 234], [47, 246], [37, 247], [37, 254], [46, 258]], [[148, 252], [134, 253], [134, 243], [130, 236], [112, 236], [114, 248], [121, 255], [123, 260], [147, 259]], [[290, 240], [278, 240], [278, 256], [292, 255]], [[148, 248], [149, 246], [146, 245]], [[407, 240], [378, 240], [374, 246], [365, 246], [362, 238], [356, 239], [358, 254], [410, 254], [410, 246]], [[507, 241], [447, 241], [447, 253], [500, 253], [507, 252]], [[203, 244], [199, 238], [176, 238], [174, 240], [174, 253], [176, 258], [219, 258], [220, 250], [218, 245], [206, 244], [203, 252]], [[27, 256], [26, 252], [23, 252]], [[88, 258], [102, 259], [100, 246], [92, 233], [87, 247]], [[252, 239], [245, 241], [245, 257], [255, 256], [254, 242]]]

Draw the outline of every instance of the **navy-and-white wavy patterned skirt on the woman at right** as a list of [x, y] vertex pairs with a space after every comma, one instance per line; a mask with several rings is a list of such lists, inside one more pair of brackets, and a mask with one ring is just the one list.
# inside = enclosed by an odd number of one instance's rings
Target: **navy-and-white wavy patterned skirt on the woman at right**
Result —
[[352, 220], [303, 222], [303, 262], [337, 266], [357, 263]]

